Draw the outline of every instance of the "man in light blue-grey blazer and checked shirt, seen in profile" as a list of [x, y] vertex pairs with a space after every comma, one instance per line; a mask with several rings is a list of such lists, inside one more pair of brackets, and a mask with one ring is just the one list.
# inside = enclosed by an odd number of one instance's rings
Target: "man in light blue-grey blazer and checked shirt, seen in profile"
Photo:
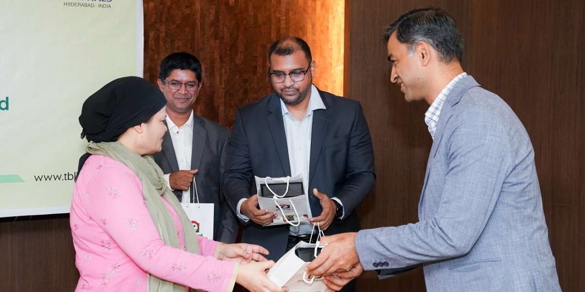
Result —
[[385, 37], [391, 81], [431, 105], [419, 222], [325, 237], [309, 274], [335, 273], [325, 283], [338, 290], [363, 269], [384, 278], [422, 265], [429, 292], [560, 291], [528, 133], [463, 72], [453, 18], [416, 9]]

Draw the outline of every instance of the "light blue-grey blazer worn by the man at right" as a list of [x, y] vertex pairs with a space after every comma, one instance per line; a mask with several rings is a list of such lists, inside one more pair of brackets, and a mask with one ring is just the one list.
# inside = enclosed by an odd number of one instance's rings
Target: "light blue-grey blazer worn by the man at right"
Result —
[[528, 133], [470, 76], [441, 109], [418, 217], [360, 231], [364, 269], [422, 265], [429, 292], [560, 291]]

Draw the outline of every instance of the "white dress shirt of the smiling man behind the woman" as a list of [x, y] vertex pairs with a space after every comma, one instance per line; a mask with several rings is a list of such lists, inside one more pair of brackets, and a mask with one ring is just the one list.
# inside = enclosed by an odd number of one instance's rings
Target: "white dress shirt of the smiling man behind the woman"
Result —
[[[193, 149], [193, 111], [191, 110], [191, 116], [181, 127], [177, 127], [173, 120], [167, 116], [168, 133], [171, 135], [171, 141], [173, 141], [173, 148], [175, 150], [175, 156], [177, 157], [177, 165], [180, 171], [191, 170], [191, 152]], [[167, 186], [171, 187], [168, 178], [170, 173], [164, 175], [164, 179], [167, 182]], [[183, 191], [183, 197], [181, 203], [191, 203], [191, 198], [188, 190]]]

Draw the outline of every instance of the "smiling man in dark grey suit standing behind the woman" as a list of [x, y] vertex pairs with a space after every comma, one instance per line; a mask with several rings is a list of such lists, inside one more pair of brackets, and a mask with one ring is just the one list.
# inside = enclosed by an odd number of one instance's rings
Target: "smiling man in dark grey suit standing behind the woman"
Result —
[[214, 240], [236, 241], [238, 221], [222, 195], [221, 180], [228, 128], [193, 112], [201, 90], [201, 63], [194, 55], [173, 53], [160, 64], [158, 84], [167, 98], [168, 131], [163, 150], [154, 161], [163, 169], [167, 185], [182, 203], [197, 203], [192, 186], [197, 184], [199, 203], [214, 204]]

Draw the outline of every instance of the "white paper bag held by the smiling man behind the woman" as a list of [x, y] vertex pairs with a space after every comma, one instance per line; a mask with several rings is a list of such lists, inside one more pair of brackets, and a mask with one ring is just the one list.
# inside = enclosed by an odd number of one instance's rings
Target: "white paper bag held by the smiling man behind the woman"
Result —
[[193, 188], [195, 197], [197, 197], [197, 203], [181, 203], [181, 206], [183, 207], [183, 210], [185, 210], [185, 213], [187, 213], [189, 221], [193, 224], [195, 232], [203, 237], [213, 239], [214, 204], [199, 203], [199, 193], [197, 192], [197, 183], [195, 183], [195, 179], [193, 179]]

